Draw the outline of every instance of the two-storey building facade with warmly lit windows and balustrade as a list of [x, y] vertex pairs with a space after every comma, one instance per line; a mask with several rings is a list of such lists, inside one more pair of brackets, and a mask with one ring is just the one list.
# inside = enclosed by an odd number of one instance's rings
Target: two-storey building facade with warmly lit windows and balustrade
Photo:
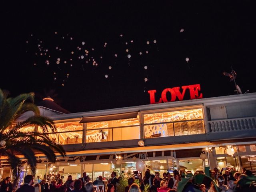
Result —
[[[46, 110], [46, 109], [45, 109]], [[51, 166], [38, 154], [36, 179], [64, 180], [87, 172], [91, 180], [110, 178], [112, 171], [133, 174], [136, 161], [145, 170], [198, 172], [242, 167], [256, 172], [256, 93], [202, 98], [79, 113], [45, 113], [57, 133], [50, 138], [62, 144], [67, 157], [58, 155]], [[26, 127], [24, 129], [33, 129]], [[234, 150], [228, 155], [228, 148]], [[202, 153], [206, 153], [202, 158]], [[201, 155], [201, 158], [200, 158]], [[2, 158], [2, 177], [10, 174]], [[24, 175], [28, 174], [24, 159]]]

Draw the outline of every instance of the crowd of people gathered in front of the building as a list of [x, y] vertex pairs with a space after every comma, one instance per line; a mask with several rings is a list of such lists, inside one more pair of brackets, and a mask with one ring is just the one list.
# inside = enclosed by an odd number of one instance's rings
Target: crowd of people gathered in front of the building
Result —
[[[209, 175], [203, 176], [202, 182], [198, 184], [196, 175], [200, 174]], [[223, 168], [218, 170], [209, 170], [209, 174], [204, 172], [192, 174], [191, 171], [181, 170], [178, 172], [174, 170], [173, 173], [163, 173], [162, 178], [159, 172], [151, 174], [150, 170], [147, 169], [144, 177], [142, 178], [140, 174], [136, 174], [131, 178], [128, 178], [128, 186], [125, 187], [124, 192], [142, 192], [147, 187], [148, 192], [194, 192], [199, 190], [201, 192], [243, 192], [243, 191], [256, 191], [254, 182], [249, 184], [241, 184], [240, 180], [246, 177], [254, 177], [250, 170], [242, 168], [242, 172], [236, 172], [234, 175], [228, 168]], [[104, 192], [115, 192], [117, 190], [118, 183], [120, 182], [120, 177], [116, 178], [116, 172], [112, 172], [111, 179], [108, 180], [106, 184], [106, 190], [104, 187]], [[138, 179], [138, 182], [135, 180]], [[184, 182], [185, 181], [185, 182]], [[139, 185], [137, 184], [139, 183]], [[182, 186], [182, 190], [178, 190], [179, 185]], [[50, 183], [46, 180], [41, 180], [40, 183], [34, 185], [34, 176], [26, 175], [24, 178], [24, 184], [16, 190], [16, 192], [94, 192], [94, 185], [105, 186], [102, 180], [102, 176], [99, 176], [94, 182], [90, 182], [89, 176], [86, 172], [82, 174], [82, 178], [77, 180], [72, 180], [72, 176], [68, 176], [68, 179], [63, 182], [60, 178], [60, 174], [57, 174], [56, 179], [52, 180]], [[12, 192], [12, 183], [10, 177], [7, 177], [2, 181], [0, 192]]]

